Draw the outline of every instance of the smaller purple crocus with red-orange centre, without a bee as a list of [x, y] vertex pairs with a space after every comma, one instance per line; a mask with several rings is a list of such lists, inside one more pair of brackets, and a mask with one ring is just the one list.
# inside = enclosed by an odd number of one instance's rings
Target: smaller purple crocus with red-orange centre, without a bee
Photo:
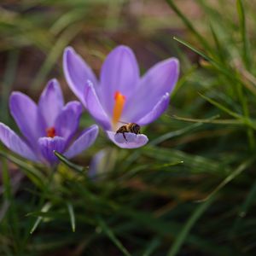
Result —
[[82, 105], [73, 101], [64, 106], [56, 79], [49, 81], [38, 105], [30, 97], [15, 91], [9, 98], [9, 108], [23, 138], [0, 123], [0, 140], [7, 148], [28, 160], [53, 165], [57, 162], [54, 150], [72, 158], [89, 148], [98, 134], [97, 125], [91, 125], [75, 137]]

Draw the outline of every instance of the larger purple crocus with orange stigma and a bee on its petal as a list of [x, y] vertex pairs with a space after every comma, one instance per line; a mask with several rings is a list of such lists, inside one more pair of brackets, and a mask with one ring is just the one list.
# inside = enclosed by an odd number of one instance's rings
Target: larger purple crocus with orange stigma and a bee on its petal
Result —
[[123, 45], [107, 56], [100, 80], [72, 47], [64, 51], [63, 67], [73, 93], [120, 148], [138, 148], [148, 142], [143, 134], [129, 132], [124, 137], [116, 131], [124, 122], [148, 125], [157, 119], [169, 105], [179, 70], [177, 59], [170, 58], [140, 79], [136, 57]]

